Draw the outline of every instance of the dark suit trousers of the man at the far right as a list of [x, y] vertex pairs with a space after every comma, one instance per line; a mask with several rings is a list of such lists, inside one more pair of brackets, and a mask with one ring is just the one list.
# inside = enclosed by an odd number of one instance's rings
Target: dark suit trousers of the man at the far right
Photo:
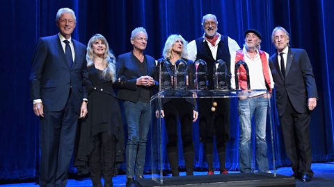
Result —
[[292, 170], [313, 176], [310, 143], [310, 112], [298, 113], [290, 100], [287, 102], [280, 124], [283, 131], [285, 151], [292, 163]]

